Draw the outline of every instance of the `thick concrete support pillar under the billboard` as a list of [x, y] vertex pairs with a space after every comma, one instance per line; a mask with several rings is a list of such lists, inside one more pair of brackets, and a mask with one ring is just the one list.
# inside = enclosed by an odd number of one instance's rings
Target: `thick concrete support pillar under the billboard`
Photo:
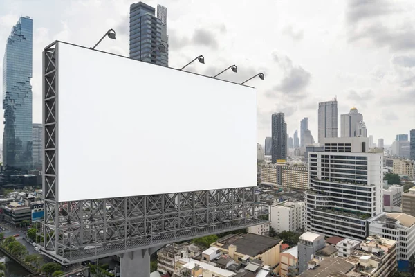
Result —
[[122, 277], [149, 277], [150, 256], [158, 247], [131, 251], [120, 255], [120, 269]]

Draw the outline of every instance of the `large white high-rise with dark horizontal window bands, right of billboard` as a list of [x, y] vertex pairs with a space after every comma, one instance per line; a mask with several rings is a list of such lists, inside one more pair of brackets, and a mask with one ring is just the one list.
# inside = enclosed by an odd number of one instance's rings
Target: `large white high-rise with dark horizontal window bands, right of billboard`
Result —
[[324, 139], [310, 152], [306, 231], [364, 240], [367, 219], [382, 213], [383, 153], [362, 137]]

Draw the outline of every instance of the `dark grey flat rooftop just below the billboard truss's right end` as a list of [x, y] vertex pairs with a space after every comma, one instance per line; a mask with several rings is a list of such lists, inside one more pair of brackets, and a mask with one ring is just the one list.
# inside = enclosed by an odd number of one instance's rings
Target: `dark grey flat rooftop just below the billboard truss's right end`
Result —
[[217, 241], [223, 244], [221, 248], [228, 249], [232, 244], [237, 247], [237, 253], [249, 255], [252, 258], [272, 249], [275, 245], [282, 242], [282, 240], [277, 238], [270, 238], [255, 233], [248, 233], [246, 235], [237, 234], [230, 237], [226, 236], [224, 238]]

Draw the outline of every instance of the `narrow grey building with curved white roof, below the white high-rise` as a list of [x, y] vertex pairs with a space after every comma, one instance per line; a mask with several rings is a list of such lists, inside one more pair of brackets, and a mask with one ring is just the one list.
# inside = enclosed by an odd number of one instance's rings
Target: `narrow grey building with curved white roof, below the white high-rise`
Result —
[[315, 252], [325, 246], [324, 235], [306, 232], [299, 236], [297, 244], [299, 274], [308, 269], [308, 262], [313, 258]]

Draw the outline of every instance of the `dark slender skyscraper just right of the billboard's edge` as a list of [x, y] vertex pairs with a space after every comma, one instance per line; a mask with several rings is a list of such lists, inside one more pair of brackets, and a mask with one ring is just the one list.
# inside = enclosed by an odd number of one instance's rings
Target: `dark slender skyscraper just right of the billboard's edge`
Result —
[[287, 129], [284, 121], [284, 113], [273, 114], [272, 116], [272, 137], [273, 149], [271, 151], [271, 161], [286, 159], [287, 148]]

